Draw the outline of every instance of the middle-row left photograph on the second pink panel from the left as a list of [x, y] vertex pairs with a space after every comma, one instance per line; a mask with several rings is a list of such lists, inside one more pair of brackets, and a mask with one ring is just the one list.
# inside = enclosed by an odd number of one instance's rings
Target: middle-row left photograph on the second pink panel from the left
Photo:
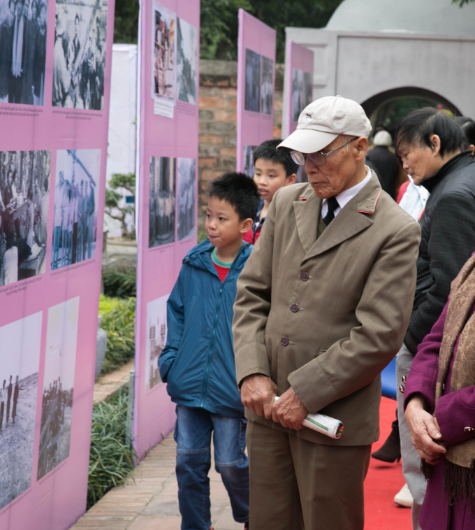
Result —
[[150, 157], [149, 248], [175, 241], [176, 159]]

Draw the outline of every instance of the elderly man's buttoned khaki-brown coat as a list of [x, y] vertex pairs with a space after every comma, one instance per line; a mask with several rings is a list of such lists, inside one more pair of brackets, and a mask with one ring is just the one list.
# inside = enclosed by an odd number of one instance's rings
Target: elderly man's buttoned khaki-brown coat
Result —
[[[306, 427], [297, 436], [369, 445], [379, 437], [379, 374], [411, 316], [421, 230], [374, 173], [317, 239], [320, 210], [309, 184], [279, 189], [270, 204], [238, 279], [238, 384], [268, 375], [279, 395], [292, 386], [310, 413], [344, 424], [339, 440]], [[249, 410], [246, 417], [295, 433]]]

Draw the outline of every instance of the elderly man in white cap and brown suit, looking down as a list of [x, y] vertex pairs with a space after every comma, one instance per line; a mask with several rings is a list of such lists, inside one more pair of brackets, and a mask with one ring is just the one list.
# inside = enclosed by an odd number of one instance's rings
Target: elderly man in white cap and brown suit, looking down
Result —
[[[363, 530], [379, 374], [409, 323], [421, 237], [365, 166], [370, 130], [341, 96], [303, 110], [279, 148], [309, 182], [279, 189], [238, 280], [251, 529]], [[339, 439], [302, 427], [316, 412], [343, 422]]]

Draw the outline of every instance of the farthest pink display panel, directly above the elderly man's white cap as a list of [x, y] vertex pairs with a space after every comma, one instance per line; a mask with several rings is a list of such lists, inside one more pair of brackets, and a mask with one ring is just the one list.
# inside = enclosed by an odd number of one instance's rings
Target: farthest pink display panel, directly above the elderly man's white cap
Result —
[[292, 41], [286, 42], [284, 138], [297, 127], [302, 110], [313, 101], [314, 52]]

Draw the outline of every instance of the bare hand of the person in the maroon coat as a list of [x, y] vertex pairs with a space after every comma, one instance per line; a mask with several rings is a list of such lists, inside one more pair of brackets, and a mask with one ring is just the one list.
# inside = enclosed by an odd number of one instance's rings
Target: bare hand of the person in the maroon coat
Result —
[[418, 397], [409, 401], [405, 415], [412, 445], [428, 464], [437, 464], [441, 455], [447, 452], [437, 421], [424, 410], [423, 401]]

